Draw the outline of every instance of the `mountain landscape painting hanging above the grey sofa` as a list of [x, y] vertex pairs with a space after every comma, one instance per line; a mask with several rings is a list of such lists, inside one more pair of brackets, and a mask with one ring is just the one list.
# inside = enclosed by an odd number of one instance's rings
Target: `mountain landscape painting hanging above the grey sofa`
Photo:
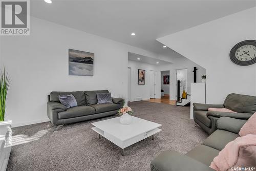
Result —
[[93, 76], [94, 54], [69, 49], [69, 75]]

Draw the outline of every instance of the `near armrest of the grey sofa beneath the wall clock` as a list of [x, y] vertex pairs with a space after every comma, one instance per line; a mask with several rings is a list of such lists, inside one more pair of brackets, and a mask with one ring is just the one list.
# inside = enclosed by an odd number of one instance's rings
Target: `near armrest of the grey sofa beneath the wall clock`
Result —
[[214, 117], [230, 117], [230, 118], [237, 118], [237, 119], [249, 119], [251, 117], [251, 113], [230, 113], [230, 112], [217, 112], [217, 111], [209, 111], [206, 114], [207, 116], [214, 116]]

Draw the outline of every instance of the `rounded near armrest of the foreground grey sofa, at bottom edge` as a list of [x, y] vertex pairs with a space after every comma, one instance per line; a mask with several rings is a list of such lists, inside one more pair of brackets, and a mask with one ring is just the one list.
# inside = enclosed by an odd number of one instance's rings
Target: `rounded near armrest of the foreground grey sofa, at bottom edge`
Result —
[[165, 151], [150, 164], [152, 171], [213, 171], [214, 169], [186, 155], [175, 151]]

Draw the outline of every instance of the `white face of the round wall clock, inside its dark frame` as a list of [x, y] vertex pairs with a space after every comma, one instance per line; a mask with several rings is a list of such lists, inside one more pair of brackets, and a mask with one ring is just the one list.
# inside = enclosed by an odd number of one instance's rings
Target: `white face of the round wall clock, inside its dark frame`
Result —
[[256, 57], [256, 46], [243, 45], [237, 49], [235, 56], [240, 61], [252, 60]]

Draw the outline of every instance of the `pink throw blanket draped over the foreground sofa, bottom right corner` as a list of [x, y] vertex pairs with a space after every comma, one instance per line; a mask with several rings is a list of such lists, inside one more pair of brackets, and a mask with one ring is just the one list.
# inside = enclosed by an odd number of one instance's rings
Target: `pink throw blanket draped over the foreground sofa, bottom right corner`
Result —
[[218, 171], [230, 170], [231, 167], [256, 166], [256, 135], [248, 134], [230, 141], [214, 158], [210, 167]]

